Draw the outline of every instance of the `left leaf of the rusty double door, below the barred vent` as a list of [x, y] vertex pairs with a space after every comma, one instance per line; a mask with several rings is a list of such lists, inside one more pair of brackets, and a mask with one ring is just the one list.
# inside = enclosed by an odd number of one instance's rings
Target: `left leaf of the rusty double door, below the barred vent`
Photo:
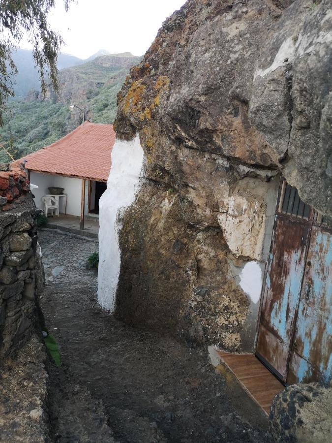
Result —
[[[256, 353], [286, 381], [310, 224], [276, 216]], [[269, 331], [268, 336], [267, 332]], [[277, 352], [272, 355], [271, 349]]]

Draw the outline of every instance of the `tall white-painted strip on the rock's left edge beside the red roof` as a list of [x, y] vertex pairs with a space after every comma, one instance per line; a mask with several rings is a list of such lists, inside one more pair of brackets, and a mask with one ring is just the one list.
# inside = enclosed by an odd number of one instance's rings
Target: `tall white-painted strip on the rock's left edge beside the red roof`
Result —
[[113, 312], [121, 264], [118, 215], [134, 201], [144, 159], [138, 136], [116, 140], [111, 157], [107, 190], [99, 200], [98, 300]]

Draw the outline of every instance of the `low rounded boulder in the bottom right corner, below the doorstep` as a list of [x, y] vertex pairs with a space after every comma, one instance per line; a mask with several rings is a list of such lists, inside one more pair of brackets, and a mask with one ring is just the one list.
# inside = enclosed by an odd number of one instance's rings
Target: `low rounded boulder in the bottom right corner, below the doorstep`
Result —
[[270, 413], [277, 442], [332, 441], [332, 388], [319, 383], [292, 384], [277, 394]]

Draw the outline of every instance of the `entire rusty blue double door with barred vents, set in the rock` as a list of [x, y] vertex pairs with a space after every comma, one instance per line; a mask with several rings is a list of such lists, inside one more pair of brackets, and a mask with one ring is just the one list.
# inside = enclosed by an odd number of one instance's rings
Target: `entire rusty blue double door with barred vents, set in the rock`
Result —
[[256, 356], [284, 383], [331, 380], [331, 227], [280, 184]]

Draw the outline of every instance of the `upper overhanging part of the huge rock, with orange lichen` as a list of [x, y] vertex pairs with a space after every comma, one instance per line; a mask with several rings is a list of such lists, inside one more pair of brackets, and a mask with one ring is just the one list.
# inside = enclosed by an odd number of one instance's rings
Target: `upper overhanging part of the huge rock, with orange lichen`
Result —
[[189, 0], [131, 70], [117, 131], [139, 130], [151, 163], [168, 158], [177, 177], [181, 142], [277, 168], [331, 216], [331, 46], [328, 0], [284, 11], [267, 0]]

